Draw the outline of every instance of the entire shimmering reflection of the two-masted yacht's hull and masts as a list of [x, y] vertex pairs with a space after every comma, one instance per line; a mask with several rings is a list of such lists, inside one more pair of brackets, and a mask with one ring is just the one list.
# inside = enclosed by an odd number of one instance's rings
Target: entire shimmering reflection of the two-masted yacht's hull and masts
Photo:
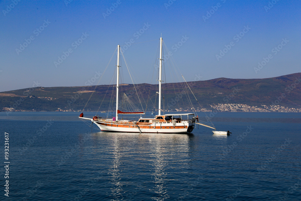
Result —
[[[194, 136], [191, 133], [99, 132], [95, 136], [95, 140], [105, 142], [102, 151], [110, 152], [105, 161], [109, 165], [111, 201], [131, 200], [147, 191], [151, 199], [163, 201], [175, 193], [168, 189], [188, 180], [190, 141]], [[129, 166], [136, 168], [128, 171]], [[139, 175], [151, 177], [151, 184], [145, 185], [141, 178], [135, 179]], [[183, 193], [179, 192], [179, 195]]]

